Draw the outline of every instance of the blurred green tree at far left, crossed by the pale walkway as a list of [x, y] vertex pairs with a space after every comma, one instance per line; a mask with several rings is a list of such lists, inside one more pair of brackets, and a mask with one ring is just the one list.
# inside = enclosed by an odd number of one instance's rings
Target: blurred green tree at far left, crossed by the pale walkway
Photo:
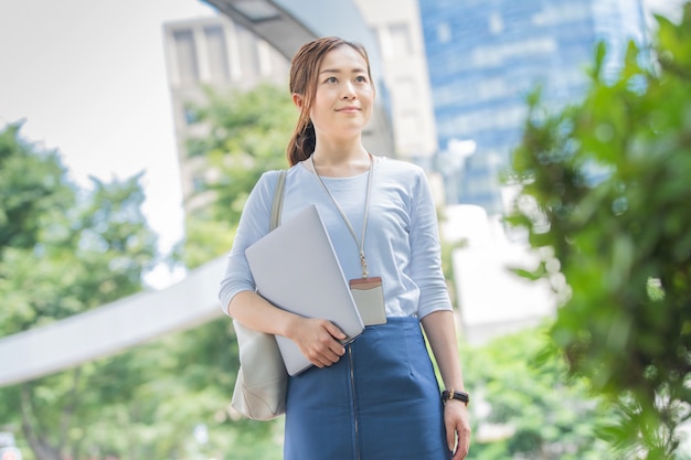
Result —
[[[79, 191], [55, 152], [19, 131], [9, 126], [0, 132], [0, 336], [141, 290], [156, 253], [139, 176], [109, 184], [93, 179], [92, 191]], [[128, 385], [142, 378], [105, 381], [104, 371], [89, 364], [0, 388], [1, 421], [21, 429], [20, 440], [38, 459], [60, 459], [83, 441], [104, 406], [127, 400]]]

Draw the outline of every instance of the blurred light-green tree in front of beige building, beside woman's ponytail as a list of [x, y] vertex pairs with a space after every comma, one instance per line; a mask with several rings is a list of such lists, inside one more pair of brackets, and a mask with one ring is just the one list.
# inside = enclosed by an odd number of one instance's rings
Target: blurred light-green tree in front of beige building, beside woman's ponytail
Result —
[[204, 127], [187, 140], [190, 158], [203, 158], [206, 174], [196, 195], [211, 196], [185, 220], [184, 247], [178, 250], [189, 268], [228, 250], [240, 215], [263, 172], [287, 168], [286, 146], [297, 111], [284, 88], [262, 84], [248, 92], [205, 89], [205, 103], [190, 107]]

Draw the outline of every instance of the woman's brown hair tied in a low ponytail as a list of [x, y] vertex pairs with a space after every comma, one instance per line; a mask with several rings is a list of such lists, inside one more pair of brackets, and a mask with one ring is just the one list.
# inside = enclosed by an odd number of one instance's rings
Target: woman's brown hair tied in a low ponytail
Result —
[[342, 45], [350, 46], [362, 55], [368, 65], [368, 76], [372, 82], [370, 58], [366, 50], [360, 43], [349, 42], [338, 36], [327, 36], [306, 43], [298, 50], [290, 64], [290, 94], [302, 96], [302, 107], [293, 138], [288, 143], [287, 157], [290, 165], [307, 160], [315, 151], [317, 137], [315, 126], [309, 119], [309, 111], [317, 93], [319, 67], [321, 67], [321, 62], [327, 53]]

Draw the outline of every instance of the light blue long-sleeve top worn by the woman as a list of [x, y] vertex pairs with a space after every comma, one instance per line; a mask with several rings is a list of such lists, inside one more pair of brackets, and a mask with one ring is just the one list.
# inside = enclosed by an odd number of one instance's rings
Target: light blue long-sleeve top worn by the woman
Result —
[[[322, 178], [358, 239], [364, 218], [368, 174]], [[226, 313], [235, 295], [255, 290], [245, 249], [268, 232], [277, 179], [278, 171], [265, 172], [245, 204], [219, 292]], [[319, 210], [346, 278], [360, 278], [359, 243], [318, 178], [298, 163], [286, 175], [281, 221], [310, 204]], [[387, 317], [422, 319], [437, 310], [451, 310], [439, 249], [435, 204], [423, 169], [379, 157], [372, 176], [364, 254], [369, 276], [382, 278]]]

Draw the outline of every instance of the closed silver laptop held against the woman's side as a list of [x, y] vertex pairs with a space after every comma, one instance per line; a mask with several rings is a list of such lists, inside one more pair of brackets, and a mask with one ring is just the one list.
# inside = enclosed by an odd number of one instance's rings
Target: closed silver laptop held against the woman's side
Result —
[[[274, 306], [339, 327], [346, 344], [364, 330], [317, 206], [310, 205], [245, 250], [257, 292]], [[276, 335], [288, 374], [312, 364], [290, 339]]]

